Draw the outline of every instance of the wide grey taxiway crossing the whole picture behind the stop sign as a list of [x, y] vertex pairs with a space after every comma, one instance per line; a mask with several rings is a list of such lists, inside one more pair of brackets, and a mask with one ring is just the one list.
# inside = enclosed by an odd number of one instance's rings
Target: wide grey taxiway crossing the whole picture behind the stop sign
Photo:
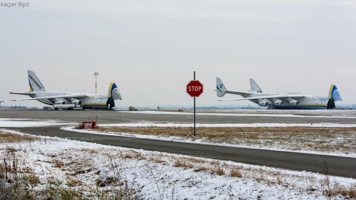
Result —
[[[98, 117], [100, 123], [128, 123], [128, 122], [178, 122], [192, 123], [193, 115], [161, 115], [137, 114], [118, 111], [43, 111], [43, 110], [0, 110], [0, 118], [9, 119], [55, 119], [67, 122], [81, 122]], [[308, 123], [313, 118], [314, 123], [356, 123], [355, 118], [318, 118], [318, 117], [272, 117], [272, 116], [197, 116], [197, 123]]]

